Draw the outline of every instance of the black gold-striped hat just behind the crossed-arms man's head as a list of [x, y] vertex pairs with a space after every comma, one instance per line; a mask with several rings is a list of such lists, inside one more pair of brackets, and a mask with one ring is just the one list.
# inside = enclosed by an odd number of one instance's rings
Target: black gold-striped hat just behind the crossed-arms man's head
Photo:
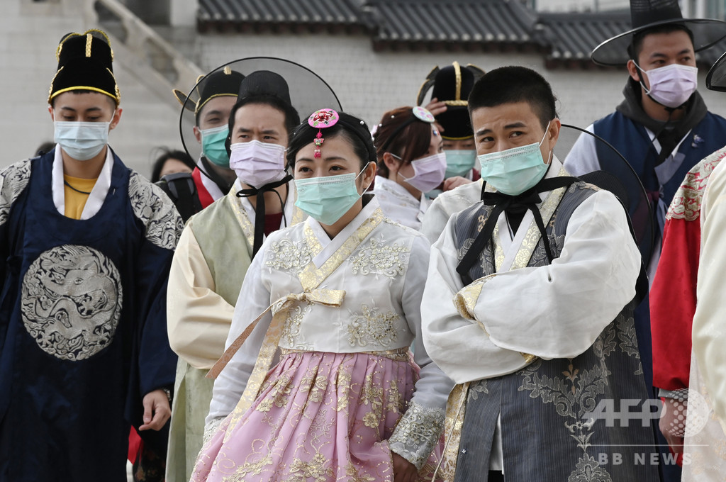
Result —
[[441, 137], [448, 140], [468, 139], [474, 135], [469, 118], [469, 93], [484, 70], [475, 65], [462, 67], [453, 62], [442, 69], [433, 68], [418, 91], [416, 105], [421, 105], [429, 89], [433, 86], [431, 97], [446, 104], [446, 112], [436, 116], [436, 122], [444, 129]]

